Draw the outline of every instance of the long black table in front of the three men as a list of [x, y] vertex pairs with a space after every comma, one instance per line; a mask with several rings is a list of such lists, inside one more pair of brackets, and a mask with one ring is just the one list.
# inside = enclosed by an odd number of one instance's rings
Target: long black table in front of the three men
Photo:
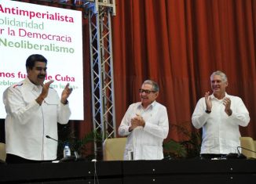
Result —
[[255, 160], [0, 164], [2, 183], [256, 183]]

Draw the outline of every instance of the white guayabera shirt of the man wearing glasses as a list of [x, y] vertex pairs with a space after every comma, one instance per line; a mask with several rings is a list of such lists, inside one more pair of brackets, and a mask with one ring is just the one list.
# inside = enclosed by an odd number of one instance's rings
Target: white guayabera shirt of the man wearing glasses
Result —
[[[145, 121], [144, 128], [134, 128], [129, 132], [131, 119], [140, 114]], [[141, 103], [129, 106], [119, 126], [119, 135], [128, 135], [124, 160], [128, 160], [128, 152], [133, 152], [134, 160], [160, 160], [163, 159], [163, 139], [169, 132], [169, 121], [166, 107], [153, 102], [146, 109]]]

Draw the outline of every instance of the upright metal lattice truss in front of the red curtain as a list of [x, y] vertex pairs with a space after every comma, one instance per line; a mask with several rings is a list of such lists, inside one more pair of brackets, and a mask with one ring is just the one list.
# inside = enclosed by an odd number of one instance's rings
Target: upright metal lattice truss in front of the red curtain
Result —
[[[115, 0], [94, 0], [85, 3], [90, 26], [90, 67], [92, 88], [93, 129], [104, 139], [116, 136], [115, 91], [112, 56], [111, 16]], [[94, 153], [102, 144], [94, 141]]]

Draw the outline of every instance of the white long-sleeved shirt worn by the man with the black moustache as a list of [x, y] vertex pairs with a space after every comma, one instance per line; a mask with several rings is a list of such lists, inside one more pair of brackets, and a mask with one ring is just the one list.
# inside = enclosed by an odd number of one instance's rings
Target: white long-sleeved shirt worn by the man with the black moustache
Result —
[[71, 110], [60, 103], [53, 88], [40, 106], [35, 99], [42, 86], [31, 83], [28, 78], [7, 88], [3, 95], [5, 104], [6, 153], [29, 160], [44, 161], [57, 158], [57, 122], [67, 124]]

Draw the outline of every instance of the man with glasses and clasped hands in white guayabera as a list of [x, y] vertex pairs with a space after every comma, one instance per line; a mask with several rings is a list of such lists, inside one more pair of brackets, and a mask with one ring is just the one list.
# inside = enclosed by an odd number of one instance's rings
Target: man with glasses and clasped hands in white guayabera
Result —
[[169, 131], [166, 107], [155, 101], [159, 95], [155, 81], [144, 81], [139, 92], [141, 102], [129, 106], [119, 126], [119, 135], [128, 135], [124, 160], [160, 160]]

